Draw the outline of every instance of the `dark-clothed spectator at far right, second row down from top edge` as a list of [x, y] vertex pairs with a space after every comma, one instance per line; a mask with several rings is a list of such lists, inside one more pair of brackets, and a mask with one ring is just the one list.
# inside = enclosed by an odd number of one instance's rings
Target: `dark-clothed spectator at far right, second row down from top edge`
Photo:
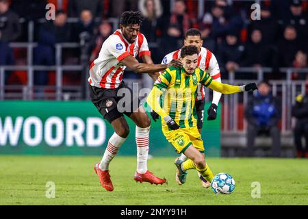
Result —
[[293, 26], [285, 27], [283, 40], [278, 42], [279, 66], [290, 67], [296, 53], [303, 47], [297, 39], [297, 32]]

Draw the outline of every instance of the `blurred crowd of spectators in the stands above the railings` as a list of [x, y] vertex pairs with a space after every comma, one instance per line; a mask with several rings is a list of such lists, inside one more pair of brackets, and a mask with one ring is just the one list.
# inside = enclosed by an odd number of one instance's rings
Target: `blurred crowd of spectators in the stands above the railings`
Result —
[[[125, 10], [140, 10], [144, 16], [141, 32], [149, 41], [155, 63], [183, 45], [185, 31], [201, 30], [204, 47], [214, 53], [222, 79], [241, 66], [270, 67], [268, 79], [284, 79], [280, 67], [307, 67], [308, 1], [260, 1], [261, 19], [251, 19], [255, 1], [216, 0], [204, 2], [204, 14], [198, 18], [198, 1], [177, 0], [0, 0], [0, 65], [21, 64], [23, 54], [8, 47], [8, 42], [27, 42], [27, 21], [35, 21], [35, 65], [55, 63], [54, 44], [80, 42], [86, 38], [89, 62], [94, 60], [104, 40], [113, 33], [108, 18], [117, 18]], [[38, 22], [46, 15], [47, 3], [54, 3], [54, 21]], [[61, 10], [59, 10], [61, 9]], [[20, 23], [20, 18], [25, 22]], [[68, 23], [68, 18], [78, 18]], [[64, 63], [77, 64], [80, 51], [64, 53]], [[243, 79], [246, 75], [242, 74]], [[306, 79], [293, 74], [292, 79]], [[35, 84], [48, 83], [47, 77], [35, 77]]]

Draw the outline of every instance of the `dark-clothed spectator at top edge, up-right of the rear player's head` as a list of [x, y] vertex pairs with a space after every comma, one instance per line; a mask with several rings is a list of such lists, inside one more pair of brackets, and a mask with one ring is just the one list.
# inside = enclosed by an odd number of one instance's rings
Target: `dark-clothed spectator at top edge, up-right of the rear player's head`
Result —
[[240, 34], [244, 25], [239, 13], [235, 13], [233, 8], [227, 5], [225, 1], [218, 1], [211, 8], [213, 16], [212, 32], [215, 38], [224, 38], [230, 31]]

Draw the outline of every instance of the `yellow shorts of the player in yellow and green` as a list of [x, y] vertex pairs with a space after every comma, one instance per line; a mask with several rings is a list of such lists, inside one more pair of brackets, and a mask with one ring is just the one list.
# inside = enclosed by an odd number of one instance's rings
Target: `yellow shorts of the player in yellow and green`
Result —
[[175, 151], [177, 151], [177, 153], [184, 153], [190, 145], [194, 146], [201, 153], [204, 153], [203, 140], [201, 139], [201, 135], [197, 127], [163, 131], [163, 133], [168, 142], [175, 147]]

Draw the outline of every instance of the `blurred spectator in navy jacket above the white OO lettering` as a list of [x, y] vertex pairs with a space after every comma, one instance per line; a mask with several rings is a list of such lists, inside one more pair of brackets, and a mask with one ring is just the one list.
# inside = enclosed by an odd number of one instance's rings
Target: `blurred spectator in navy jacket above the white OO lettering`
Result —
[[[54, 21], [48, 21], [40, 27], [38, 47], [34, 49], [35, 65], [55, 64], [55, 43], [70, 42], [70, 26], [66, 23], [67, 15], [64, 11], [57, 11]], [[48, 75], [46, 71], [37, 71], [34, 84], [46, 85]]]

